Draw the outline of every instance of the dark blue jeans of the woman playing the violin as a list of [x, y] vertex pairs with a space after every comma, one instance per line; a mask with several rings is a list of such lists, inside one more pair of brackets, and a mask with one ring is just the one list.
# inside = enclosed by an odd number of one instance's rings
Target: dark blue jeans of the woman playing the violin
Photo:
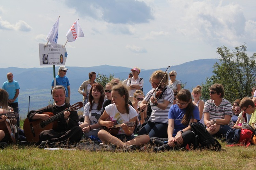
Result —
[[167, 135], [168, 123], [157, 123], [148, 121], [145, 126], [143, 126], [138, 135], [147, 135], [158, 138], [168, 138]]

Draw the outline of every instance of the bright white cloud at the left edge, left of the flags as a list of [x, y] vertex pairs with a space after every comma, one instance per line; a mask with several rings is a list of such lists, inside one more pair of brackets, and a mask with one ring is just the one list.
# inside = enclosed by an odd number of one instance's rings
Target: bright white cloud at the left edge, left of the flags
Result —
[[15, 25], [11, 24], [6, 20], [2, 20], [0, 17], [0, 29], [4, 30], [18, 30], [28, 32], [31, 31], [32, 27], [30, 27], [25, 21], [19, 20]]

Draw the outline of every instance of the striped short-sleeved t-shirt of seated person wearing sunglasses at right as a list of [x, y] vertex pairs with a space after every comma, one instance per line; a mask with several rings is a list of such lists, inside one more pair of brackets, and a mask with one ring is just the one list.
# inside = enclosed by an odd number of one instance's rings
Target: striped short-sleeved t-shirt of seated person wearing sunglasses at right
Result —
[[[230, 115], [231, 117], [233, 115], [231, 103], [224, 98], [222, 98], [222, 102], [218, 106], [215, 105], [214, 100], [212, 99], [206, 101], [203, 108], [203, 114], [207, 112], [210, 113], [210, 120], [224, 119], [225, 115]], [[228, 125], [232, 128], [233, 122], [231, 118]]]

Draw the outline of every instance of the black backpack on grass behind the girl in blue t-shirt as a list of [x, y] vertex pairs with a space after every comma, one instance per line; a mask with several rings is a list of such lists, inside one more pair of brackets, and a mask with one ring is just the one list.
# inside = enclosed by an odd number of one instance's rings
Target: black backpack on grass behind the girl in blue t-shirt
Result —
[[201, 125], [201, 123], [191, 122], [189, 125], [193, 129], [196, 137], [196, 148], [207, 148], [215, 151], [221, 150], [221, 144], [219, 144], [219, 142], [213, 138], [213, 136]]

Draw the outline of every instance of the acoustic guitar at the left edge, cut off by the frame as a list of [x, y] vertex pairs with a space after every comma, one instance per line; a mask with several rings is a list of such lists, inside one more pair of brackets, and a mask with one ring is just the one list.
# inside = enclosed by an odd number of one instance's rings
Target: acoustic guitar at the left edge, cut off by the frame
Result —
[[17, 133], [17, 125], [11, 124], [9, 119], [16, 119], [19, 117], [17, 112], [1, 113], [0, 116], [5, 115], [8, 119], [0, 122], [0, 129], [8, 136], [11, 142], [16, 143], [15, 133]]

